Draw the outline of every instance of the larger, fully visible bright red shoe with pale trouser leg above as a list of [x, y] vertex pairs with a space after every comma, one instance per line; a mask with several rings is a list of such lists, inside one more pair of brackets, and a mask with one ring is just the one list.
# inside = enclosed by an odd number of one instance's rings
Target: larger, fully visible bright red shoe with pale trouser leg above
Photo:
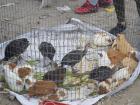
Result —
[[77, 14], [95, 13], [98, 11], [99, 4], [92, 5], [88, 0], [81, 6], [76, 8], [74, 11]]

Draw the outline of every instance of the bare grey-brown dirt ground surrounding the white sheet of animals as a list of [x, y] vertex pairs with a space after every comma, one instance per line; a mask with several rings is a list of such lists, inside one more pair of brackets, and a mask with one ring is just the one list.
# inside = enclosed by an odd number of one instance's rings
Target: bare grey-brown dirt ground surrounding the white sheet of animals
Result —
[[[63, 3], [62, 3], [62, 2]], [[100, 9], [98, 13], [87, 15], [76, 15], [72, 11], [60, 13], [54, 7], [40, 9], [40, 0], [0, 0], [0, 5], [15, 3], [13, 6], [0, 7], [0, 42], [14, 38], [25, 32], [32, 31], [32, 28], [49, 27], [64, 23], [68, 18], [75, 17], [83, 21], [95, 24], [108, 31], [116, 25], [115, 13], [107, 13]], [[79, 2], [64, 2], [56, 5], [67, 4], [71, 8], [79, 5]], [[128, 40], [140, 50], [140, 19], [133, 0], [126, 0], [126, 18]], [[140, 79], [123, 92], [111, 98], [103, 99], [97, 105], [140, 105]], [[20, 105], [17, 101], [9, 101], [6, 95], [0, 96], [0, 105]]]

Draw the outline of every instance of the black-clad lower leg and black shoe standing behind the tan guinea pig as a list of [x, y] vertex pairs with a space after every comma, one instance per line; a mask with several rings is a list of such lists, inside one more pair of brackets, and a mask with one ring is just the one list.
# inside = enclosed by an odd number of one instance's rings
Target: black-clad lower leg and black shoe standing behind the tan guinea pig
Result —
[[114, 0], [114, 6], [118, 19], [118, 24], [116, 27], [110, 30], [110, 33], [117, 35], [126, 29], [124, 0]]

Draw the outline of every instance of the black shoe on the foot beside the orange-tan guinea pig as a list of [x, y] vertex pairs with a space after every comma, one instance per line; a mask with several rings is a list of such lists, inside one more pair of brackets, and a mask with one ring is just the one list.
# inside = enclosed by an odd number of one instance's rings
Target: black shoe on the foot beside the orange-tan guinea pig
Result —
[[122, 22], [122, 23], [118, 23], [114, 28], [112, 28], [109, 33], [117, 36], [117, 34], [123, 32], [126, 29], [126, 23]]

